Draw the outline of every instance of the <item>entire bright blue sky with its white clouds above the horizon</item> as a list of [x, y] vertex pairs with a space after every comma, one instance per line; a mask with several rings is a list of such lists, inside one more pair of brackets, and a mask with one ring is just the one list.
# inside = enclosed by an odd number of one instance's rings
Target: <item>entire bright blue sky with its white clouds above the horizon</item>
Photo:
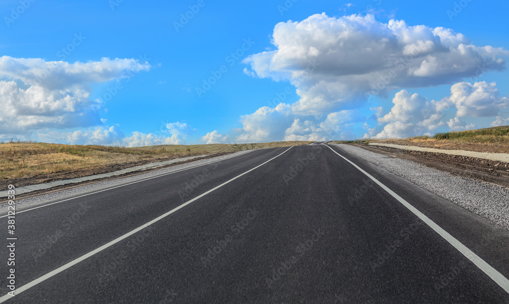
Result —
[[318, 141], [509, 124], [508, 8], [2, 1], [0, 140]]

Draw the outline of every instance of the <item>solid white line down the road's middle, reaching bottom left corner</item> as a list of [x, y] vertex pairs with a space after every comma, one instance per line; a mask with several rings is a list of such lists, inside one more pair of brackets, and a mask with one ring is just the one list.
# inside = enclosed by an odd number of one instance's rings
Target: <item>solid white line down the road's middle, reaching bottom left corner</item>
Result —
[[[109, 243], [106, 243], [106, 244], [104, 244], [104, 245], [100, 246], [100, 247], [99, 247], [99, 248], [97, 248], [96, 250], [91, 251], [91, 252], [89, 252], [88, 254], [83, 255], [83, 256], [81, 256], [81, 257], [79, 257], [79, 258], [77, 258], [77, 259], [75, 259], [75, 260], [73, 260], [73, 261], [71, 261], [71, 262], [69, 262], [69, 263], [67, 263], [67, 264], [65, 264], [65, 265], [63, 265], [63, 266], [61, 266], [61, 267], [59, 267], [59, 268], [56, 268], [56, 269], [55, 269], [55, 270], [53, 270], [53, 271], [50, 271], [50, 272], [48, 272], [48, 273], [44, 274], [42, 277], [39, 277], [39, 278], [35, 279], [34, 281], [32, 281], [32, 282], [30, 282], [30, 283], [27, 283], [27, 284], [25, 284], [25, 285], [23, 285], [23, 286], [21, 286], [21, 287], [19, 287], [19, 288], [16, 288], [16, 290], [15, 290], [15, 295], [18, 295], [18, 294], [22, 293], [23, 291], [25, 291], [25, 290], [27, 290], [27, 289], [29, 289], [29, 288], [32, 288], [32, 287], [36, 286], [37, 284], [42, 283], [42, 282], [44, 282], [44, 281], [48, 280], [49, 278], [53, 277], [54, 275], [59, 274], [60, 272], [62, 272], [62, 271], [64, 271], [64, 270], [66, 270], [66, 269], [68, 269], [68, 268], [70, 268], [70, 267], [72, 267], [72, 266], [74, 266], [74, 265], [78, 264], [79, 262], [81, 262], [81, 261], [83, 261], [83, 260], [86, 260], [86, 259], [88, 259], [88, 258], [92, 257], [93, 255], [95, 255], [95, 254], [97, 254], [97, 253], [99, 253], [99, 252], [101, 252], [101, 251], [105, 250], [106, 248], [108, 248], [108, 247], [110, 247], [110, 246], [112, 246], [112, 245], [114, 245], [114, 244], [116, 244], [116, 243], [120, 242], [121, 240], [123, 240], [123, 239], [125, 239], [125, 238], [127, 238], [127, 237], [129, 237], [129, 236], [131, 236], [131, 235], [133, 235], [133, 234], [135, 234], [136, 232], [139, 232], [140, 230], [143, 230], [143, 229], [145, 229], [145, 228], [149, 227], [150, 225], [152, 225], [152, 224], [154, 224], [154, 223], [158, 222], [159, 220], [161, 220], [161, 219], [163, 219], [164, 217], [166, 217], [166, 216], [168, 216], [168, 215], [170, 215], [170, 214], [174, 213], [175, 211], [177, 211], [177, 210], [179, 210], [179, 209], [184, 208], [185, 206], [187, 206], [187, 205], [191, 204], [192, 202], [194, 202], [194, 201], [196, 201], [196, 200], [198, 200], [198, 199], [203, 198], [204, 196], [208, 195], [210, 192], [212, 192], [212, 191], [214, 191], [214, 190], [217, 190], [217, 189], [219, 189], [220, 187], [222, 187], [222, 186], [224, 186], [224, 185], [226, 185], [226, 184], [228, 184], [228, 183], [230, 183], [230, 182], [232, 182], [232, 181], [234, 181], [234, 180], [238, 179], [239, 177], [241, 177], [241, 176], [243, 176], [243, 175], [246, 175], [246, 174], [248, 174], [249, 172], [251, 172], [251, 171], [253, 171], [253, 170], [256, 170], [256, 169], [258, 169], [258, 168], [262, 167], [262, 165], [264, 165], [264, 164], [266, 164], [267, 162], [269, 162], [269, 161], [271, 161], [271, 160], [274, 160], [274, 159], [276, 159], [277, 157], [279, 157], [279, 156], [281, 156], [281, 155], [285, 154], [288, 150], [290, 150], [290, 149], [292, 149], [292, 148], [293, 148], [293, 146], [292, 146], [292, 147], [290, 147], [290, 148], [288, 148], [285, 152], [283, 152], [283, 153], [281, 153], [281, 154], [277, 155], [276, 157], [271, 158], [271, 159], [267, 160], [266, 162], [264, 162], [264, 163], [262, 163], [262, 164], [260, 164], [260, 165], [257, 165], [257, 167], [254, 167], [253, 169], [251, 169], [251, 170], [249, 170], [249, 171], [246, 171], [246, 172], [242, 173], [241, 175], [238, 175], [238, 176], [236, 176], [236, 177], [232, 178], [231, 180], [229, 180], [229, 181], [227, 181], [227, 182], [224, 182], [224, 183], [220, 184], [219, 186], [217, 186], [217, 187], [215, 187], [215, 188], [212, 188], [212, 189], [208, 190], [208, 191], [207, 191], [207, 192], [205, 192], [204, 194], [202, 194], [202, 195], [200, 195], [200, 196], [197, 196], [197, 197], [195, 197], [194, 199], [192, 199], [192, 200], [190, 200], [190, 201], [185, 202], [184, 204], [182, 204], [182, 205], [178, 206], [177, 208], [172, 209], [171, 211], [168, 211], [168, 212], [164, 213], [163, 215], [161, 215], [161, 216], [159, 216], [159, 217], [157, 217], [157, 218], [155, 218], [155, 219], [151, 220], [150, 222], [148, 222], [147, 224], [145, 224], [145, 225], [143, 225], [143, 226], [140, 226], [140, 227], [138, 227], [138, 228], [136, 228], [136, 229], [132, 230], [131, 232], [128, 232], [128, 233], [124, 234], [123, 236], [120, 236], [120, 237], [118, 237], [118, 238], [116, 238], [116, 239], [114, 239], [114, 240], [110, 241]], [[8, 299], [10, 299], [10, 298], [12, 298], [12, 297], [13, 297], [13, 296], [11, 296], [11, 295], [9, 295], [9, 294], [6, 294], [6, 295], [4, 295], [4, 296], [0, 297], [0, 303], [5, 302], [5, 301], [7, 301]]]

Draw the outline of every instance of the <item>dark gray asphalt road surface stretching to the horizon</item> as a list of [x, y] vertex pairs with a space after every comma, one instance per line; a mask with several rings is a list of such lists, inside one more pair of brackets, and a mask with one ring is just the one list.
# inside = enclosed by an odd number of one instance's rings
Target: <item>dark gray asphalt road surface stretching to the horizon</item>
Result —
[[[507, 231], [332, 148], [509, 278]], [[496, 273], [334, 151], [256, 150], [18, 213], [17, 295], [0, 301], [509, 303]]]

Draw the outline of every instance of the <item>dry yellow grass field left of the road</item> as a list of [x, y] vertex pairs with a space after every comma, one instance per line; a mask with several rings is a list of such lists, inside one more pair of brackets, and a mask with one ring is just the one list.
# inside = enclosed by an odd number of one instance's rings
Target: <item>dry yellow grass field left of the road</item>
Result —
[[234, 145], [163, 145], [140, 148], [59, 145], [34, 142], [0, 143], [0, 181], [73, 172], [104, 165], [160, 160], [190, 155], [307, 145], [310, 142], [275, 142]]

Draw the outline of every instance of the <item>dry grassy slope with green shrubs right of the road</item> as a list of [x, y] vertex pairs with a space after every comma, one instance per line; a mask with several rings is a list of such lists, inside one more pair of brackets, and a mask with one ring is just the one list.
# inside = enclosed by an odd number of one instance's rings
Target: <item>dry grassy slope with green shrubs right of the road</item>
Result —
[[437, 133], [433, 137], [417, 136], [408, 139], [370, 140], [370, 142], [445, 150], [509, 153], [509, 126]]

